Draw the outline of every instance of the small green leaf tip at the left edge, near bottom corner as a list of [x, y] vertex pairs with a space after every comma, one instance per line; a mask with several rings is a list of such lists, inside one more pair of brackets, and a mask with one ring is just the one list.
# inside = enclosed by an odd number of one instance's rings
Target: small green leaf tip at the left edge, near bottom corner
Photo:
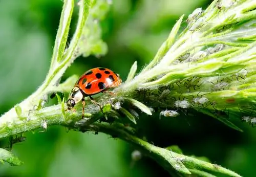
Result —
[[0, 148], [0, 161], [7, 162], [14, 166], [20, 166], [23, 164], [17, 157], [14, 156], [10, 151]]

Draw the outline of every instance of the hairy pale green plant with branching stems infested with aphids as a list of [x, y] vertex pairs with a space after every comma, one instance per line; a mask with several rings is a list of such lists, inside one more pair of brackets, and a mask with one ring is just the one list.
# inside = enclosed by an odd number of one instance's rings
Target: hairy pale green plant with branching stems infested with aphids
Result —
[[[106, 53], [99, 21], [108, 12], [111, 1], [79, 1], [76, 30], [68, 47], [75, 2], [63, 3], [49, 73], [37, 91], [2, 115], [0, 138], [57, 124], [120, 138], [156, 160], [170, 174], [240, 176], [204, 159], [185, 156], [177, 146], [164, 148], [148, 143], [139, 136], [136, 122], [142, 114], [200, 114], [240, 131], [233, 121], [256, 123], [256, 113], [252, 111], [256, 107], [256, 1], [218, 0], [205, 10], [196, 9], [187, 19], [182, 15], [150, 63], [136, 74], [135, 62], [127, 79], [112, 91], [114, 94], [95, 97], [102, 109], [86, 100], [83, 119], [81, 104], [75, 106], [75, 112], [68, 110], [67, 100], [58, 95], [59, 104], [46, 107], [44, 103], [52, 93], [69, 94], [72, 90], [77, 76], [59, 81], [78, 56]], [[184, 21], [187, 27], [181, 31]], [[19, 136], [12, 138], [11, 145], [23, 140]], [[0, 159], [12, 165], [22, 164], [8, 148], [1, 149]]]

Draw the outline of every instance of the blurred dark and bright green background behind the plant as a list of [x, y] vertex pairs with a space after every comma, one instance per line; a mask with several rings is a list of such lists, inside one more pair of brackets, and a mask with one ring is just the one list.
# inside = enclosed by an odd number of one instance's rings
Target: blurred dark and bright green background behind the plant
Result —
[[[63, 76], [106, 67], [125, 80], [134, 61], [142, 68], [155, 55], [175, 21], [207, 0], [114, 0], [102, 21], [106, 56], [79, 57]], [[60, 0], [0, 1], [0, 112], [29, 96], [44, 80], [61, 12]], [[74, 15], [74, 18], [77, 16]], [[72, 23], [74, 31], [74, 23]], [[185, 23], [183, 23], [183, 27]], [[122, 64], [120, 64], [122, 63]], [[149, 141], [160, 147], [177, 144], [185, 154], [206, 156], [243, 176], [254, 176], [256, 129], [240, 123], [233, 130], [213, 118], [159, 120], [141, 118]], [[155, 161], [143, 157], [131, 167], [129, 144], [110, 136], [49, 127], [46, 132], [27, 132], [27, 140], [13, 152], [24, 161], [20, 167], [0, 165], [0, 176], [168, 176]], [[3, 141], [0, 142], [3, 144]]]

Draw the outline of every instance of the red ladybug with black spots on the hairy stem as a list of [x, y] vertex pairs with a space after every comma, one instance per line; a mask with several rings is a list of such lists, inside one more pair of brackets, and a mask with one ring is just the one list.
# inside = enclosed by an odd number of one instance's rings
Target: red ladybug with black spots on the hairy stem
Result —
[[[68, 109], [71, 110], [78, 102], [82, 101], [82, 118], [84, 114], [84, 97], [89, 97], [95, 104], [92, 95], [117, 87], [122, 83], [119, 74], [106, 68], [93, 68], [88, 70], [75, 83], [67, 101]], [[98, 104], [100, 106], [100, 104]], [[101, 108], [101, 106], [100, 106]]]

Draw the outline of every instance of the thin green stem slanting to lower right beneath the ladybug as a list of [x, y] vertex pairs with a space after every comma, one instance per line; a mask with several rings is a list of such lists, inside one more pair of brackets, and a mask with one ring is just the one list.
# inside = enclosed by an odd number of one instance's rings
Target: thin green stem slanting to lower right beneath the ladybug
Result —
[[[142, 150], [147, 156], [156, 160], [161, 166], [163, 166], [169, 172], [173, 172], [172, 170], [173, 168], [175, 168], [177, 171], [185, 174], [190, 174], [194, 172], [198, 173], [198, 170], [189, 171], [185, 167], [185, 166], [188, 166], [188, 167], [193, 166], [194, 168], [198, 168], [199, 170], [208, 170], [212, 172], [226, 174], [229, 176], [241, 177], [239, 174], [231, 170], [228, 170], [226, 168], [223, 168], [219, 165], [214, 165], [202, 160], [198, 160], [193, 157], [188, 157], [183, 154], [169, 151], [165, 148], [154, 146], [134, 135], [131, 135], [128, 131], [125, 131], [125, 127], [120, 128], [120, 127], [116, 127], [115, 125], [95, 122], [89, 126], [88, 125], [83, 126], [82, 124], [80, 124], [78, 127], [76, 127], [76, 130], [83, 131], [83, 132], [88, 130], [103, 132], [104, 134], [111, 135], [112, 137], [118, 137], [140, 148], [140, 150]], [[185, 165], [184, 167], [182, 167], [183, 164]], [[179, 166], [180, 169], [177, 169], [177, 166]], [[201, 173], [203, 172], [201, 171]]]

